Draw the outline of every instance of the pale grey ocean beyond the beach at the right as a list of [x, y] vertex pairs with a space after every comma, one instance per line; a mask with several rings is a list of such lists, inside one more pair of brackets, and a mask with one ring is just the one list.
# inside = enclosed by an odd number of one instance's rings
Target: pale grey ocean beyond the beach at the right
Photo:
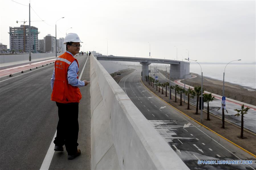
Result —
[[[200, 64], [203, 76], [223, 81], [226, 64]], [[199, 64], [190, 64], [190, 72], [201, 75]], [[256, 89], [255, 64], [228, 64], [225, 70], [225, 82]]]

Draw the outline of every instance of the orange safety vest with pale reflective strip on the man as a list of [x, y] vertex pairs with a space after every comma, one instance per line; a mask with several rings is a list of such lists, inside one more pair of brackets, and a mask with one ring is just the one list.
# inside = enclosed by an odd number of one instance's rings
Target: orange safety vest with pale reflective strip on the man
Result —
[[77, 60], [67, 52], [57, 58], [54, 65], [55, 80], [51, 96], [52, 101], [58, 103], [75, 103], [79, 102], [82, 98], [80, 89], [70, 85], [67, 80], [67, 69], [73, 61], [77, 62]]

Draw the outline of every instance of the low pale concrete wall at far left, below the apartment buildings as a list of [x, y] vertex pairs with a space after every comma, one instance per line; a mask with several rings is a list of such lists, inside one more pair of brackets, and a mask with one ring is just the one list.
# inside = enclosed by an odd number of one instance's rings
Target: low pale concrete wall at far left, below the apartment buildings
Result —
[[[62, 53], [57, 53], [60, 56]], [[55, 53], [35, 53], [31, 54], [32, 59], [54, 57]], [[19, 62], [29, 60], [29, 54], [14, 54], [14, 55], [1, 55], [0, 63]]]

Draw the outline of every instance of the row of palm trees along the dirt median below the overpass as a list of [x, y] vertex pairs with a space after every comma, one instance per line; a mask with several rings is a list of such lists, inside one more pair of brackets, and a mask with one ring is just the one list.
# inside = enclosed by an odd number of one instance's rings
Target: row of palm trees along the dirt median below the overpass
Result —
[[[162, 87], [162, 95], [163, 95], [163, 88], [165, 87], [165, 97], [167, 97], [167, 87], [170, 88], [171, 90], [174, 89], [175, 90], [175, 103], [177, 102], [177, 93], [180, 94], [180, 106], [182, 106], [182, 94], [186, 94], [188, 96], [188, 105], [187, 105], [187, 109], [190, 109], [190, 98], [194, 98], [196, 97], [196, 112], [195, 114], [198, 114], [198, 103], [199, 103], [199, 96], [201, 95], [201, 87], [200, 86], [196, 86], [194, 87], [194, 89], [191, 89], [189, 87], [188, 90], [185, 90], [183, 87], [180, 87], [179, 85], [175, 85], [172, 86], [169, 84], [169, 82], [165, 82], [165, 83], [161, 83], [158, 80], [155, 80], [153, 77], [149, 77], [149, 76], [145, 76], [146, 80], [148, 81], [149, 85], [153, 85], [154, 88], [154, 84], [156, 85], [156, 90], [157, 87], [158, 88], [158, 92], [160, 92], [160, 87]], [[171, 90], [170, 90], [170, 99], [171, 99]], [[203, 93], [204, 93], [204, 89], [203, 89]], [[212, 102], [214, 100], [214, 96], [212, 96], [212, 93], [204, 93], [203, 94], [204, 97], [204, 102], [207, 103], [207, 118], [206, 120], [210, 120], [210, 108], [209, 108], [209, 102]], [[243, 138], [243, 115], [247, 114], [247, 111], [250, 108], [245, 108], [244, 105], [241, 106], [241, 109], [235, 109], [235, 111], [237, 111], [237, 114], [235, 114], [235, 116], [240, 116], [241, 115], [241, 135], [240, 137]], [[222, 127], [224, 126], [223, 124], [224, 122], [222, 122]]]

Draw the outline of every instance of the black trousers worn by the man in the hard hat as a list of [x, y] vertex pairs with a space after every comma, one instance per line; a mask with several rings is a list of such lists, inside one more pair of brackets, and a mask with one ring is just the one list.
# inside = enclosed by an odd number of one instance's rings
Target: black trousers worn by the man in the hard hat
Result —
[[78, 103], [58, 103], [59, 122], [57, 135], [54, 144], [65, 145], [68, 155], [73, 155], [77, 151], [78, 138]]

